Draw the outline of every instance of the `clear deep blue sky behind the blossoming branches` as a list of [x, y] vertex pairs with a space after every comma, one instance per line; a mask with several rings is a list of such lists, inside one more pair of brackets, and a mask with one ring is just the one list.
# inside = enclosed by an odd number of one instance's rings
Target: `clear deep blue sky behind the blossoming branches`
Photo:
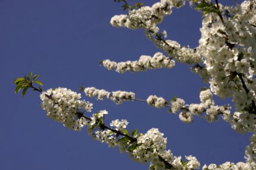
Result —
[[[33, 71], [40, 74], [44, 90], [79, 91], [82, 84], [133, 91], [139, 99], [157, 95], [170, 100], [176, 95], [188, 104], [198, 103], [200, 88], [208, 84], [189, 66], [176, 63], [172, 70], [118, 74], [98, 64], [101, 59], [136, 60], [160, 51], [142, 30], [113, 28], [110, 19], [121, 13], [121, 4], [111, 0], [0, 1], [0, 169], [148, 169], [148, 164], [132, 162], [118, 148], [93, 141], [86, 130], [71, 131], [50, 120], [40, 108], [37, 92], [28, 91], [25, 97], [14, 94], [14, 78]], [[201, 14], [188, 6], [174, 10], [160, 25], [170, 39], [191, 47], [198, 44], [200, 27]], [[128, 129], [138, 128], [141, 133], [159, 128], [175, 156], [196, 156], [201, 166], [244, 160], [249, 134], [236, 133], [222, 120], [209, 124], [196, 117], [192, 124], [183, 124], [167, 109], [82, 97], [93, 103], [94, 112], [108, 110], [106, 121], [127, 119]]]

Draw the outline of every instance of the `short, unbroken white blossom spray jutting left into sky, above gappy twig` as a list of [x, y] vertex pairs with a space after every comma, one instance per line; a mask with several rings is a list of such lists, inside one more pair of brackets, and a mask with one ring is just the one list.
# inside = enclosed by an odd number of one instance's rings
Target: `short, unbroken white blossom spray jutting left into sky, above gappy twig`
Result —
[[106, 59], [102, 61], [102, 65], [108, 70], [115, 70], [118, 73], [126, 71], [137, 72], [146, 71], [147, 69], [160, 69], [162, 67], [171, 69], [175, 65], [175, 61], [170, 57], [166, 57], [163, 53], [155, 53], [153, 57], [141, 56], [138, 61], [115, 62]]

